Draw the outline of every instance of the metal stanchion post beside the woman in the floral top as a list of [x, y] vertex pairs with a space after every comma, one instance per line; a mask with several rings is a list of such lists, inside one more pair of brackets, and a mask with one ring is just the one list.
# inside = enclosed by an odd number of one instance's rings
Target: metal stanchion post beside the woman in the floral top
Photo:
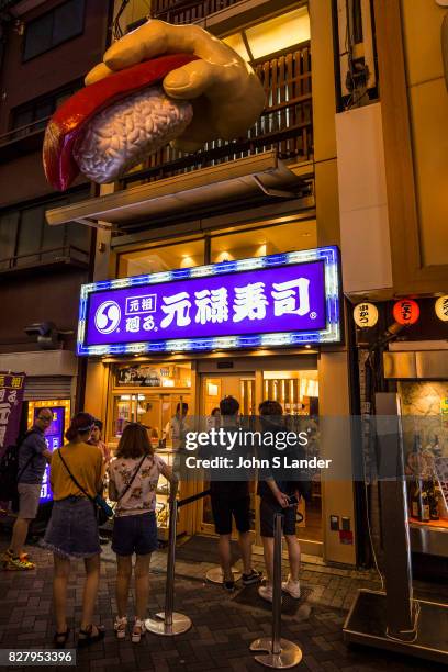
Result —
[[178, 503], [175, 500], [169, 505], [169, 536], [167, 559], [167, 583], [165, 589], [165, 612], [147, 618], [145, 627], [155, 635], [181, 635], [191, 628], [191, 619], [183, 614], [173, 612], [175, 607], [175, 572], [176, 572], [176, 529]]

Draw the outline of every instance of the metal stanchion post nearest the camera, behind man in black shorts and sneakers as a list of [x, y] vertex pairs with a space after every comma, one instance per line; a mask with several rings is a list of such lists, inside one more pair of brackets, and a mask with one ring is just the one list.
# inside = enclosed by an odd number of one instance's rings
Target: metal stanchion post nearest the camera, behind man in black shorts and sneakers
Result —
[[281, 546], [283, 537], [283, 514], [273, 517], [273, 571], [272, 571], [272, 637], [256, 639], [250, 651], [265, 651], [255, 660], [265, 668], [277, 670], [295, 668], [302, 660], [301, 649], [288, 639], [281, 638]]

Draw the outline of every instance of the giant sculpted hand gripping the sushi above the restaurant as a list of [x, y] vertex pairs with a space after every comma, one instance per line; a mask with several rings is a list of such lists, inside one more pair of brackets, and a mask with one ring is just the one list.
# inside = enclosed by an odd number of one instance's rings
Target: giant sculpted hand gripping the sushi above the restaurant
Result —
[[211, 139], [245, 135], [265, 107], [265, 91], [251, 67], [229, 46], [197, 25], [150, 20], [115, 42], [86, 77], [86, 85], [164, 54], [194, 54], [199, 60], [172, 70], [164, 89], [193, 104], [193, 121], [172, 145], [194, 152]]

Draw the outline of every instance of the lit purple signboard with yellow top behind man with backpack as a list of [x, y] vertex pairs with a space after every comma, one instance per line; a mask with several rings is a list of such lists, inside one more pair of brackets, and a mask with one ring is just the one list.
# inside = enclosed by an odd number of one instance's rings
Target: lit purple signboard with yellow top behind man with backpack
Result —
[[[53, 401], [29, 402], [29, 427], [34, 425], [34, 422], [41, 408], [49, 408], [53, 413], [53, 421], [45, 432], [45, 441], [48, 450], [53, 452], [60, 446], [64, 446], [64, 434], [70, 422], [70, 400], [58, 399]], [[49, 485], [49, 464], [45, 467], [45, 473], [42, 481], [40, 503], [45, 504], [53, 500], [52, 488]]]

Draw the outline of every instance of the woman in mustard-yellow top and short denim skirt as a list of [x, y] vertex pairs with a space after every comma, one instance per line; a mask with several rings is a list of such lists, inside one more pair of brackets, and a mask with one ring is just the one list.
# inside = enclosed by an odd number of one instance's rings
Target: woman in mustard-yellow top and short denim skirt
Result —
[[88, 440], [94, 417], [77, 413], [66, 432], [68, 440], [53, 452], [49, 482], [53, 511], [42, 546], [53, 551], [53, 602], [56, 616], [54, 646], [64, 648], [68, 636], [67, 586], [70, 560], [83, 559], [86, 584], [82, 595], [78, 647], [104, 638], [104, 629], [92, 623], [100, 582], [101, 546], [94, 499], [102, 488], [103, 458]]

